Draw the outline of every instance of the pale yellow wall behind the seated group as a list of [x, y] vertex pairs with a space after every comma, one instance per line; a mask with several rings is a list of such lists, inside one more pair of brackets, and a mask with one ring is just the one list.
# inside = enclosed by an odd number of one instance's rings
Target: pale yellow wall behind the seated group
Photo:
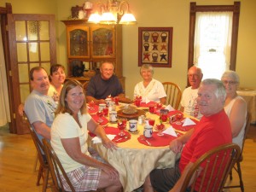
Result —
[[[96, 0], [90, 0], [96, 2]], [[5, 1], [4, 1], [5, 2]], [[107, 0], [102, 0], [107, 2]], [[123, 65], [126, 78], [125, 91], [132, 96], [133, 88], [141, 81], [138, 58], [138, 27], [172, 26], [172, 68], [154, 68], [154, 78], [163, 81], [173, 81], [182, 90], [186, 85], [189, 47], [189, 0], [128, 0], [131, 11], [137, 18], [137, 25], [123, 26]], [[233, 0], [195, 0], [201, 4], [233, 4]], [[84, 1], [70, 0], [9, 0], [13, 5], [14, 13], [44, 13], [55, 14], [56, 20], [67, 20], [71, 15], [71, 7], [82, 6]], [[56, 6], [57, 5], [57, 6]], [[4, 6], [0, 0], [0, 6]], [[254, 45], [256, 44], [256, 1], [241, 0], [241, 15], [238, 36], [238, 49], [236, 57], [236, 72], [241, 78], [241, 86], [256, 88], [256, 57]], [[56, 22], [58, 62], [67, 65], [66, 31], [65, 25]], [[129, 83], [128, 83], [129, 82]]]

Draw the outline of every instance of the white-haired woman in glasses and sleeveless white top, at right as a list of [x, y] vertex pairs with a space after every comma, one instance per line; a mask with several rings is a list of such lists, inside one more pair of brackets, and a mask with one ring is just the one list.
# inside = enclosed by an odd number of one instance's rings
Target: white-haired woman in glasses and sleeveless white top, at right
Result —
[[239, 76], [236, 72], [225, 72], [221, 80], [227, 92], [224, 110], [230, 119], [232, 141], [241, 148], [246, 126], [247, 103], [241, 96], [237, 96], [236, 90], [239, 86]]

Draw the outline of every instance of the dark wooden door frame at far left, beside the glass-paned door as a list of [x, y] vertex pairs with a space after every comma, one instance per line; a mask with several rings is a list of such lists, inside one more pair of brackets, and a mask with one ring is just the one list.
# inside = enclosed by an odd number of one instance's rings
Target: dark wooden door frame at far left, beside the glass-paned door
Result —
[[12, 79], [9, 77], [10, 69], [10, 55], [9, 55], [9, 34], [7, 29], [7, 15], [12, 14], [12, 5], [11, 3], [5, 3], [5, 8], [0, 7], [0, 18], [1, 18], [1, 33], [2, 33], [2, 41], [3, 41], [3, 55], [5, 60], [5, 67], [6, 67], [6, 77], [7, 77], [7, 84], [8, 84], [8, 96], [9, 96], [9, 109], [10, 109], [10, 119], [9, 122], [9, 131], [11, 133], [15, 133], [15, 117], [14, 115], [14, 105], [11, 101], [14, 101], [14, 94], [12, 89], [10, 89], [12, 84]]

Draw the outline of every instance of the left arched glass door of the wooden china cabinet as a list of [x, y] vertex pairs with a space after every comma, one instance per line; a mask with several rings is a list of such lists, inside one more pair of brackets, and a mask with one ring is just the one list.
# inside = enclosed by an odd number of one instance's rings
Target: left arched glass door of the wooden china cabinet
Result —
[[67, 53], [69, 58], [89, 58], [90, 34], [88, 26], [67, 27]]

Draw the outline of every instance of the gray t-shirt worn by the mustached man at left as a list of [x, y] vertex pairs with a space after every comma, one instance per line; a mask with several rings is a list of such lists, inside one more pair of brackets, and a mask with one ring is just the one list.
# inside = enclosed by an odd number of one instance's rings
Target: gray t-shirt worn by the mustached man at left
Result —
[[[45, 96], [37, 90], [32, 90], [25, 102], [25, 112], [30, 123], [41, 121], [51, 127], [55, 118], [56, 103], [51, 96]], [[37, 131], [35, 131], [37, 133]], [[42, 136], [37, 133], [40, 141]]]

